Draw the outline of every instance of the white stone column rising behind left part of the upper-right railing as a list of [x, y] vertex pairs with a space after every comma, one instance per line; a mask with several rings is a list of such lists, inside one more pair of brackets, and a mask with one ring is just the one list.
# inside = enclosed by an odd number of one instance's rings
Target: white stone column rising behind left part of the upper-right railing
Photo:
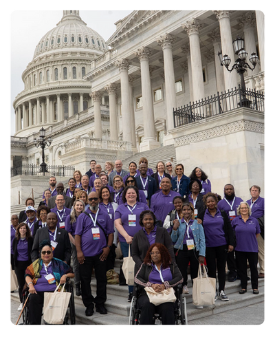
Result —
[[204, 99], [204, 85], [201, 63], [201, 48], [199, 46], [199, 29], [201, 24], [197, 19], [192, 19], [182, 25], [189, 36], [190, 56], [192, 66], [192, 86], [194, 101]]

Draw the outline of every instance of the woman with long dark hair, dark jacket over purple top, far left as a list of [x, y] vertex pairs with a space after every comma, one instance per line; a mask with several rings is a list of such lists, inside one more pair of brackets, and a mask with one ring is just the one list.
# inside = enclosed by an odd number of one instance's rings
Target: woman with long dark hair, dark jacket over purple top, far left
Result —
[[12, 242], [12, 248], [14, 250], [14, 270], [15, 275], [17, 275], [19, 285], [18, 291], [21, 303], [18, 310], [21, 310], [23, 307], [22, 290], [25, 284], [25, 269], [32, 264], [30, 252], [32, 250], [33, 242], [34, 239], [28, 224], [21, 222], [21, 224], [17, 226], [14, 241]]

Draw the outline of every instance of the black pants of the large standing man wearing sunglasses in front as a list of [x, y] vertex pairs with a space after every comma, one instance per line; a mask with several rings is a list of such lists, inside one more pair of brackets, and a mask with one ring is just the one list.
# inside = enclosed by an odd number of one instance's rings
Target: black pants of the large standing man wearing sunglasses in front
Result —
[[[94, 257], [85, 257], [83, 264], [80, 264], [80, 280], [82, 301], [85, 307], [93, 303], [100, 305], [107, 300], [107, 277], [106, 260], [100, 261], [100, 255]], [[96, 273], [96, 297], [91, 294], [91, 273], [93, 268]]]

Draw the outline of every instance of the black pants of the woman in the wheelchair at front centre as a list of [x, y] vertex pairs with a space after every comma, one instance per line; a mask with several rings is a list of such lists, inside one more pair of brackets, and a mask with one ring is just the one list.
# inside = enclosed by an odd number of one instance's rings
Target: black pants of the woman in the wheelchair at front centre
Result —
[[155, 306], [149, 301], [147, 294], [143, 294], [137, 299], [137, 305], [142, 310], [140, 314], [140, 327], [153, 327], [153, 316], [155, 313], [162, 317], [163, 327], [174, 327], [174, 303], [166, 302]]

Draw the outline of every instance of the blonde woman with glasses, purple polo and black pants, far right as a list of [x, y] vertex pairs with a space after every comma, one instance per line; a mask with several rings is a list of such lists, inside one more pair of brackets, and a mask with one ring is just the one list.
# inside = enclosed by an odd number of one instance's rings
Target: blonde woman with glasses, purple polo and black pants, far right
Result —
[[251, 284], [253, 294], [258, 290], [258, 241], [261, 233], [259, 222], [251, 216], [251, 209], [247, 202], [241, 202], [237, 209], [237, 217], [232, 219], [232, 227], [236, 233], [236, 266], [241, 278], [240, 294], [244, 294], [248, 286], [247, 260], [251, 271]]

